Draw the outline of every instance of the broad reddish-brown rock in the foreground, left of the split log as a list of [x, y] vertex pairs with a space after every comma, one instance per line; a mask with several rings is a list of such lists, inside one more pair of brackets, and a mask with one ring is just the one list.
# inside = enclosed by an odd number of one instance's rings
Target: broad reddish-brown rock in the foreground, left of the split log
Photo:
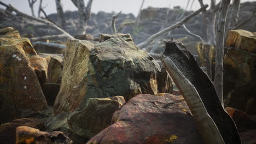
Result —
[[203, 143], [183, 97], [160, 95], [133, 97], [87, 143]]

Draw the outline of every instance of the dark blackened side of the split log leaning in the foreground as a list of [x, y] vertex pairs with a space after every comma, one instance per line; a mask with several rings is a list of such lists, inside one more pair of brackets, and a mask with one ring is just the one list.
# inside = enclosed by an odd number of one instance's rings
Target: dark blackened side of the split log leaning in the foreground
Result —
[[[187, 50], [184, 51], [183, 46], [171, 40], [166, 43], [164, 56], [170, 58], [186, 79], [196, 88], [207, 112], [212, 117], [214, 123], [216, 123], [225, 143], [241, 143], [235, 123], [223, 109], [211, 80], [199, 65], [197, 65], [193, 55]], [[172, 74], [170, 75], [172, 76]], [[182, 92], [182, 88], [176, 82], [181, 77], [172, 77], [172, 79]]]

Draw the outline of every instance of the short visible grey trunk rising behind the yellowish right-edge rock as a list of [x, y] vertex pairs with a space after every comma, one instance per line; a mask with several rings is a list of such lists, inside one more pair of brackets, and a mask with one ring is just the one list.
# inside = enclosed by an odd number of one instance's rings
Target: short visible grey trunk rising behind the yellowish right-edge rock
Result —
[[232, 3], [228, 29], [231, 29], [237, 26], [239, 11], [240, 11], [240, 0], [234, 0]]

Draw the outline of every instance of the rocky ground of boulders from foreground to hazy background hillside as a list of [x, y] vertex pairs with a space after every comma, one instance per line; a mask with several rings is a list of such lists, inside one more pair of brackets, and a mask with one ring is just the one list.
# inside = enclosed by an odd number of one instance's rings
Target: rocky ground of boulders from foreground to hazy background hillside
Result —
[[[255, 7], [255, 2], [243, 3], [241, 16], [248, 16]], [[66, 49], [31, 44], [29, 34], [38, 37], [57, 33], [41, 23], [19, 16], [11, 23], [2, 23], [1, 143], [204, 143], [165, 67], [136, 46], [164, 27], [159, 22], [165, 21], [166, 10], [144, 9], [140, 29], [126, 26], [114, 35], [109, 35], [113, 14], [92, 14], [87, 29], [91, 35], [86, 36], [89, 40], [79, 40], [79, 36], [68, 39]], [[168, 25], [181, 12], [171, 9]], [[0, 14], [0, 22], [13, 16], [4, 10]], [[77, 12], [67, 11], [65, 15], [67, 31], [75, 35]], [[49, 17], [56, 21], [56, 14]], [[132, 20], [132, 14], [121, 14], [117, 27]], [[202, 20], [196, 16], [187, 27], [205, 35], [199, 26], [203, 26]], [[255, 32], [254, 26], [252, 20], [243, 29]], [[249, 144], [256, 142], [256, 34], [245, 30], [228, 33], [223, 85], [225, 110], [236, 123], [242, 143]], [[205, 56], [209, 56], [214, 68], [213, 45], [194, 46], [197, 39], [181, 28], [170, 35], [193, 40], [190, 50], [198, 53], [200, 67], [207, 67]]]

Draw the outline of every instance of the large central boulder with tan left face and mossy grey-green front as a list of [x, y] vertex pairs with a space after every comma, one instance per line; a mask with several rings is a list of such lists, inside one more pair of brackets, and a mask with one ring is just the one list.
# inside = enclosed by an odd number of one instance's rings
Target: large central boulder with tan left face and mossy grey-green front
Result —
[[130, 34], [102, 34], [99, 43], [68, 40], [65, 56], [65, 81], [54, 115], [72, 112], [89, 98], [122, 95], [129, 100], [137, 94], [158, 93], [160, 65], [133, 44]]

